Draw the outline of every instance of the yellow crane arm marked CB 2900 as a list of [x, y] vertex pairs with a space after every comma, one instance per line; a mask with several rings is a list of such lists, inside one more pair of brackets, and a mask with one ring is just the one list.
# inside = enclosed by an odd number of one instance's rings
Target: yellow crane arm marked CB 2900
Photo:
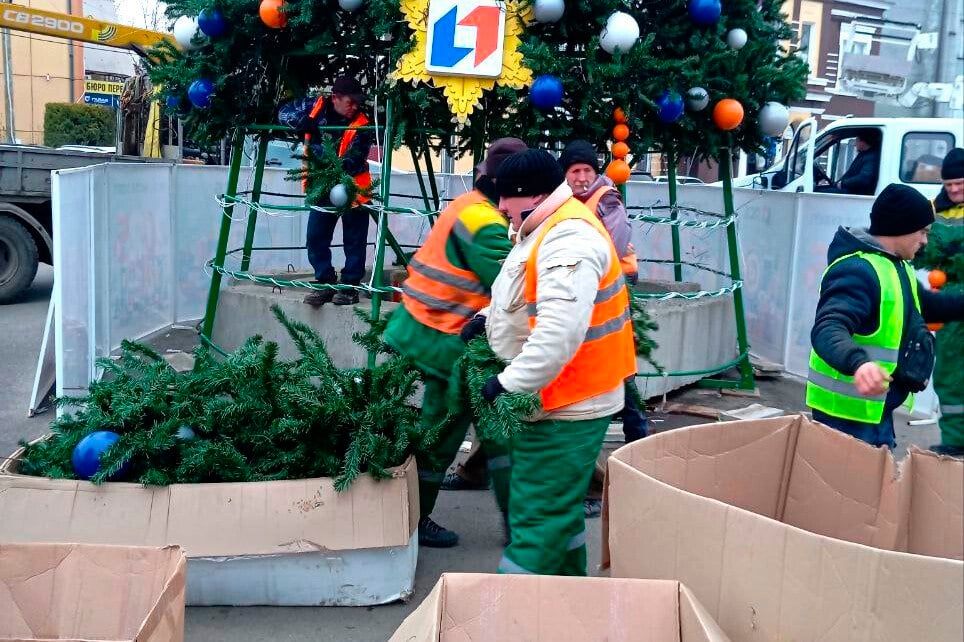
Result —
[[163, 40], [174, 42], [173, 36], [166, 33], [17, 4], [0, 3], [0, 27], [131, 49], [141, 55]]

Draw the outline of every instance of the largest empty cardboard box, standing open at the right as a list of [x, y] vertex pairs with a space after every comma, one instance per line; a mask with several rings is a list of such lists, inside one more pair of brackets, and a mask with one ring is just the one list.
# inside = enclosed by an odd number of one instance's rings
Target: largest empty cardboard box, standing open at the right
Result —
[[678, 579], [737, 642], [960, 642], [962, 506], [960, 460], [801, 416], [694, 426], [609, 459], [603, 563]]

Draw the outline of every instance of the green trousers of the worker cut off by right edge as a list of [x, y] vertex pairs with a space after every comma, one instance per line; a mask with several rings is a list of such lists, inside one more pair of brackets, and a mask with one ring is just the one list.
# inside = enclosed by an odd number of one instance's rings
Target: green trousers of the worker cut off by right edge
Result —
[[964, 448], [964, 322], [937, 332], [934, 392], [941, 404], [941, 444]]

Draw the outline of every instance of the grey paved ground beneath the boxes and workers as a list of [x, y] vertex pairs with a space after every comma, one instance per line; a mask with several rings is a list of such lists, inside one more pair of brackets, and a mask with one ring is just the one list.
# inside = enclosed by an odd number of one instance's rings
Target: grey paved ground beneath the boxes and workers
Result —
[[[52, 271], [41, 273], [25, 300], [0, 307], [0, 456], [14, 450], [21, 438], [42, 434], [50, 414], [26, 416], [30, 390], [43, 333], [43, 322], [52, 285]], [[758, 402], [788, 412], [802, 411], [803, 384], [778, 377], [759, 382], [761, 397], [744, 398], [690, 389], [670, 401], [721, 409]], [[706, 418], [665, 414], [657, 408], [651, 415], [656, 431], [705, 423]], [[934, 425], [908, 426], [898, 417], [899, 453], [910, 443], [924, 447], [938, 440]], [[416, 591], [408, 604], [374, 608], [191, 608], [187, 613], [189, 642], [327, 642], [386, 640], [399, 622], [427, 595], [443, 571], [491, 572], [501, 555], [502, 531], [495, 502], [488, 492], [443, 492], [435, 517], [462, 535], [454, 549], [423, 549], [419, 553]], [[587, 523], [590, 571], [599, 562], [600, 522]]]

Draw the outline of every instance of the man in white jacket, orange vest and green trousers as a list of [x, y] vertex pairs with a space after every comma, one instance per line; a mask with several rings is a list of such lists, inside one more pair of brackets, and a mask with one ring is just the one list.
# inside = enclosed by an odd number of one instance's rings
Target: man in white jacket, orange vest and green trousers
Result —
[[508, 365], [482, 395], [538, 393], [542, 405], [512, 439], [512, 539], [499, 572], [585, 575], [583, 498], [636, 371], [629, 296], [609, 232], [549, 152], [513, 154], [496, 187], [517, 232], [485, 326]]

